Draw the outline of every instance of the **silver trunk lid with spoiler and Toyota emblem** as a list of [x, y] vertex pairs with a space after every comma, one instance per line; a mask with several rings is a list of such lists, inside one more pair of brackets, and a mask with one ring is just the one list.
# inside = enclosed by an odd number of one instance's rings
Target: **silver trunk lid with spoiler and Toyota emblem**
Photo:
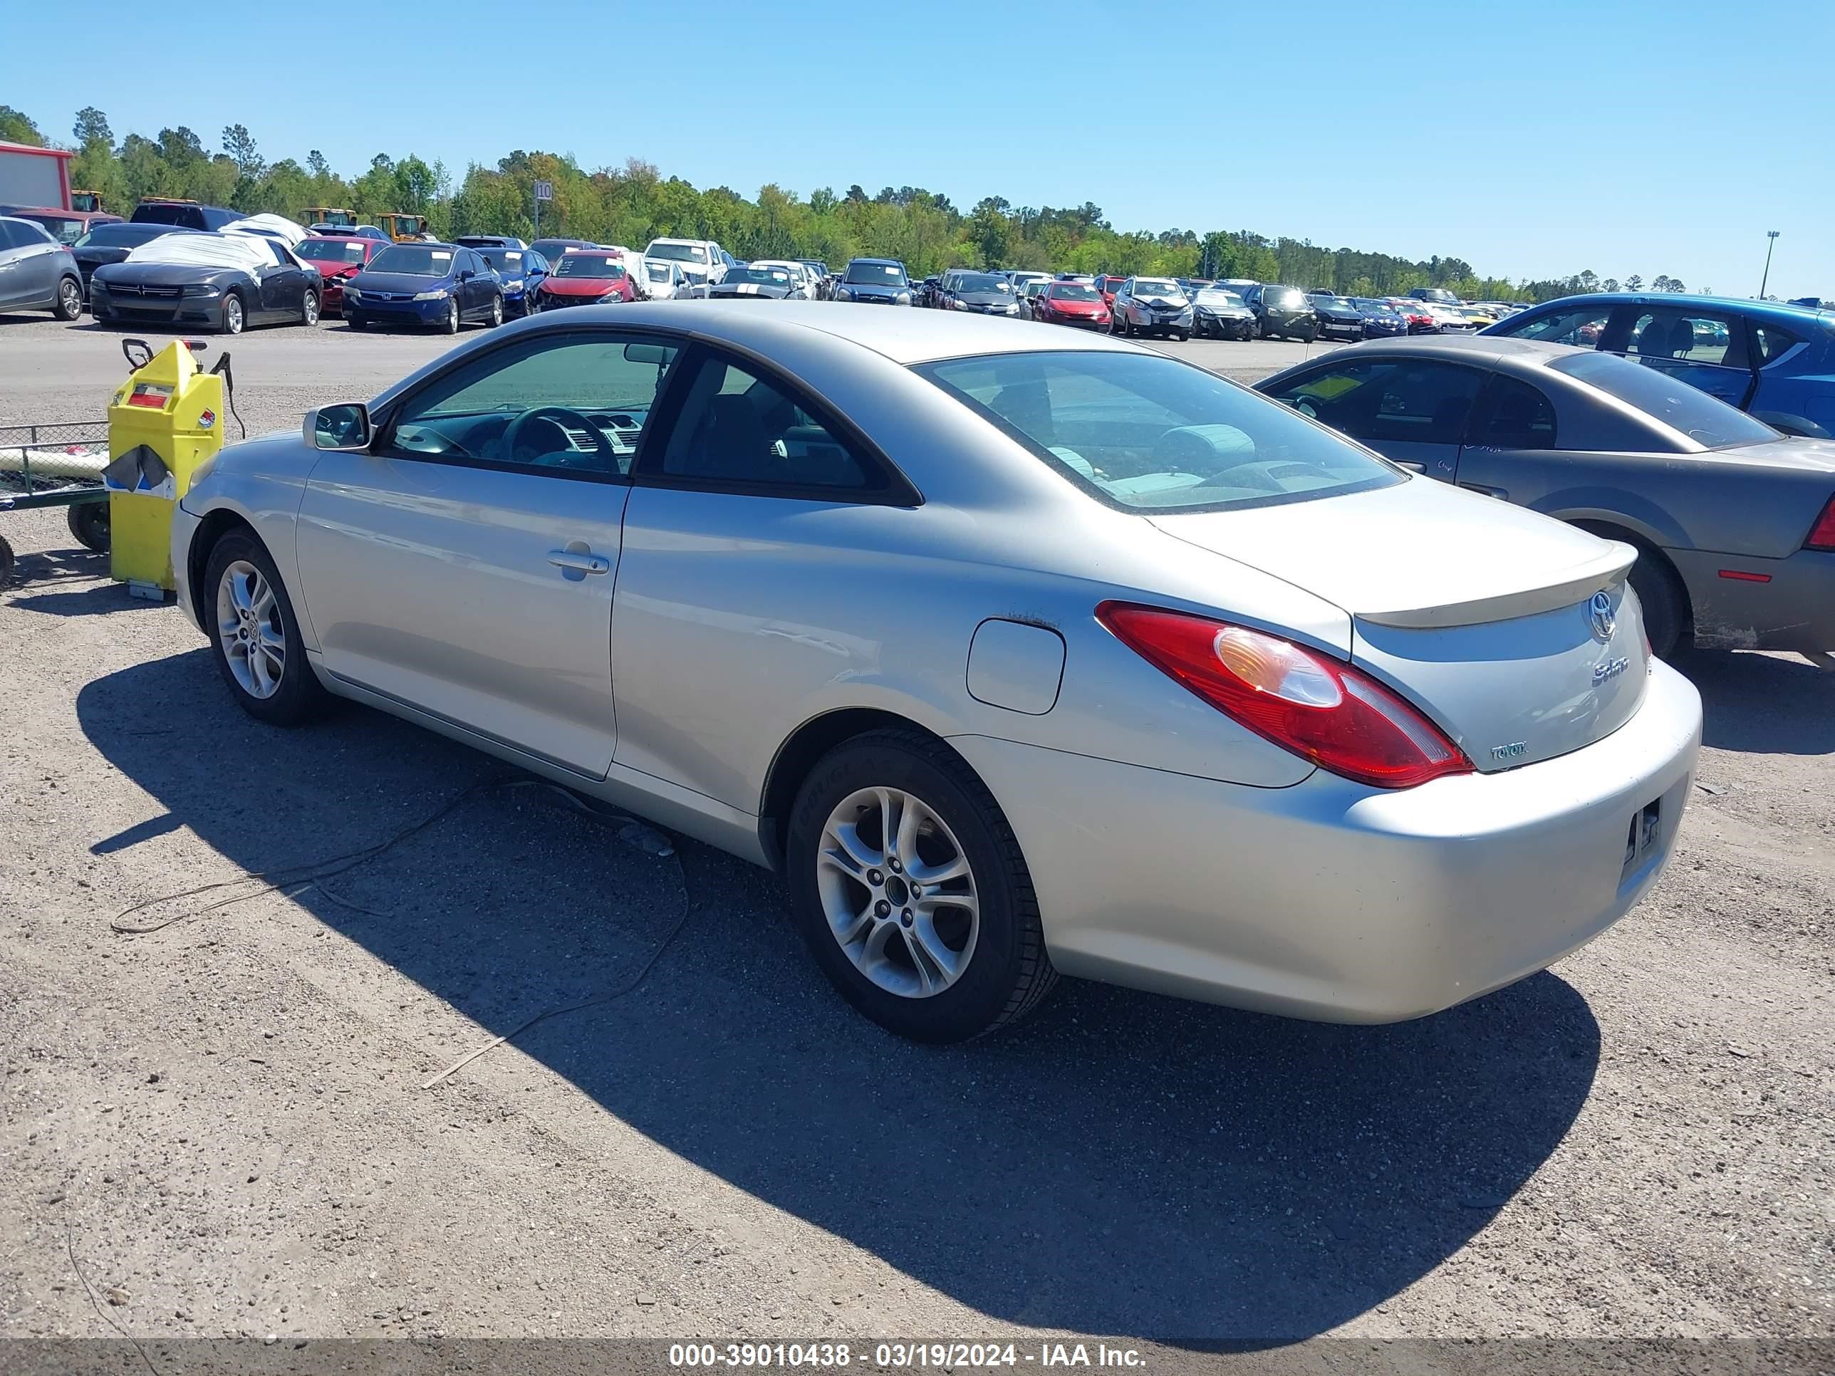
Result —
[[1644, 697], [1628, 545], [1426, 479], [1152, 519], [1351, 613], [1352, 662], [1420, 706], [1481, 771], [1578, 750]]

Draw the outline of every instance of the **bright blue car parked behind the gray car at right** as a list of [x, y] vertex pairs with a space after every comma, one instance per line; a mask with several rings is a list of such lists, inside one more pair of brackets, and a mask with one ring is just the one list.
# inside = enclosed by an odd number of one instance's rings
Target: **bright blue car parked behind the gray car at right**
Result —
[[1479, 334], [1624, 354], [1785, 435], [1835, 435], [1835, 310], [1595, 292], [1530, 306]]

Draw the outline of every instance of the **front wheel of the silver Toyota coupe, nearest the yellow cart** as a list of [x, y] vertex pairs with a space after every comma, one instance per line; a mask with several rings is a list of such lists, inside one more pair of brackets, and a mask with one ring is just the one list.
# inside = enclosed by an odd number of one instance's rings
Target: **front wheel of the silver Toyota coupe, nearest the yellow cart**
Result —
[[294, 602], [250, 530], [231, 530], [211, 549], [198, 602], [217, 671], [244, 712], [272, 727], [297, 727], [325, 708], [328, 695], [306, 664]]

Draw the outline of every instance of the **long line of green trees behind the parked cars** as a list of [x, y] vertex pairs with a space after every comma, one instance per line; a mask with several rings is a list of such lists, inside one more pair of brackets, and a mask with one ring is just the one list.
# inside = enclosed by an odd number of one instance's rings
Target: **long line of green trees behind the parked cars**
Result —
[[[521, 235], [534, 224], [534, 183], [554, 185], [541, 207], [541, 231], [606, 244], [642, 246], [655, 237], [714, 239], [741, 259], [796, 257], [829, 264], [851, 257], [899, 259], [918, 277], [945, 268], [1044, 268], [1057, 272], [1151, 273], [1158, 277], [1248, 277], [1332, 288], [1347, 295], [1400, 295], [1415, 286], [1444, 286], [1483, 301], [1547, 301], [1578, 292], [1615, 290], [1618, 283], [1591, 272], [1549, 281], [1479, 277], [1455, 257], [1426, 261], [1351, 248], [1323, 248], [1305, 239], [1268, 239], [1250, 229], [1196, 233], [1119, 231], [1099, 205], [1053, 209], [1011, 205], [985, 196], [958, 209], [949, 196], [923, 187], [883, 187], [868, 194], [850, 185], [813, 191], [807, 200], [776, 183], [747, 200], [730, 187], [697, 189], [639, 158], [622, 167], [582, 169], [571, 156], [517, 149], [495, 165], [472, 163], [453, 180], [439, 161], [378, 152], [358, 176], [334, 172], [317, 149], [305, 163], [268, 161], [242, 125], [222, 130], [211, 150], [191, 128], [161, 128], [156, 138], [127, 134], [119, 141], [95, 106], [77, 112], [72, 128], [72, 185], [97, 191], [103, 204], [127, 213], [143, 196], [180, 196], [255, 215], [275, 211], [299, 218], [306, 205], [349, 207], [361, 220], [384, 211], [426, 215], [439, 237], [466, 233]], [[0, 106], [0, 139], [46, 145], [39, 127]], [[1639, 277], [1624, 286], [1642, 286]], [[1653, 290], [1681, 292], [1668, 275]]]

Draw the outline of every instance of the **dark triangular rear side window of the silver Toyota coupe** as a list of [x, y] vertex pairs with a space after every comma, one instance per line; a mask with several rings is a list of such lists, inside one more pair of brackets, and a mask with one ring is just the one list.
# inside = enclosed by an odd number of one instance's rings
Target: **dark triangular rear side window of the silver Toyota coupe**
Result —
[[763, 495], [886, 486], [879, 470], [800, 398], [712, 352], [686, 383], [661, 475]]

